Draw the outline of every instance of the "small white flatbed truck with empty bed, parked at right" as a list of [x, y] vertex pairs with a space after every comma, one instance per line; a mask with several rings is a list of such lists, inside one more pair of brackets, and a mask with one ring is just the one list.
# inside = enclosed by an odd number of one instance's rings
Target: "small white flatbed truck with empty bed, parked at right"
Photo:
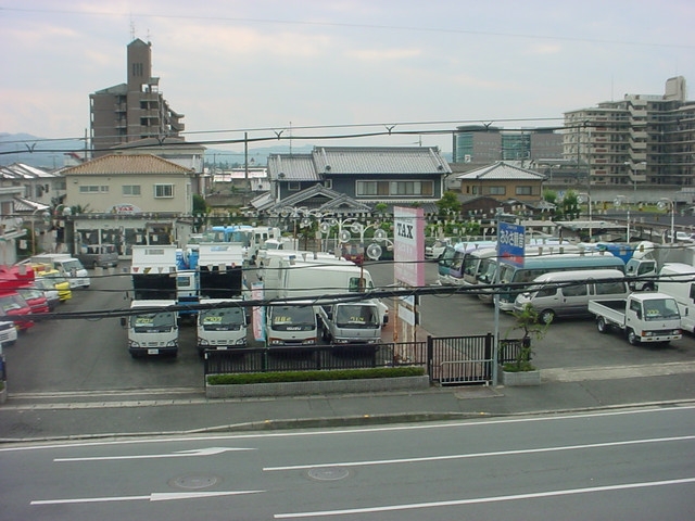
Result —
[[621, 330], [632, 345], [668, 344], [682, 336], [681, 314], [672, 296], [658, 292], [632, 293], [628, 298], [589, 301], [598, 332]]

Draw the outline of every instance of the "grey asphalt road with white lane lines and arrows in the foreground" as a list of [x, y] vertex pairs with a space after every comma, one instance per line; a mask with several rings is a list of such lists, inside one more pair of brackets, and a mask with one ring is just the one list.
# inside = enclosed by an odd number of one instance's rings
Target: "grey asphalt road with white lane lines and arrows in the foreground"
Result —
[[0, 519], [691, 519], [692, 407], [0, 448]]

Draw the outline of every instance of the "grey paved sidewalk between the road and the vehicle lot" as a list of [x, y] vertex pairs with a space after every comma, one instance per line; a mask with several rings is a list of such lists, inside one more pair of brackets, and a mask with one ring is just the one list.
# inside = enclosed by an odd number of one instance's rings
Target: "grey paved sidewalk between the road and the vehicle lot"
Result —
[[13, 395], [0, 443], [457, 420], [695, 403], [695, 363], [544, 369], [529, 387], [206, 399], [199, 389]]

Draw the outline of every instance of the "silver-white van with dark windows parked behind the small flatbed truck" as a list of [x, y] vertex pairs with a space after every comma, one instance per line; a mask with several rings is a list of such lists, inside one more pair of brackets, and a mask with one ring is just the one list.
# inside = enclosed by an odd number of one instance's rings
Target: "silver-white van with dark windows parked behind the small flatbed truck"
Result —
[[555, 317], [591, 316], [589, 301], [627, 298], [630, 288], [619, 269], [553, 271], [533, 280], [528, 291], [517, 295], [514, 309], [531, 304], [548, 322]]

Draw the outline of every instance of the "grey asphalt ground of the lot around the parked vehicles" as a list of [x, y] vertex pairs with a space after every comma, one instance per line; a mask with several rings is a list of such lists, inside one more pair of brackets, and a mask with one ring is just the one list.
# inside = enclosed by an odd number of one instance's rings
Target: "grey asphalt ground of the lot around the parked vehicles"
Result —
[[[437, 265], [426, 263], [428, 282], [435, 280]], [[369, 270], [377, 285], [393, 281], [391, 264]], [[130, 280], [123, 270], [92, 276], [91, 288], [77, 291], [59, 312], [111, 310], [129, 307]], [[391, 306], [393, 303], [387, 301]], [[420, 300], [422, 328], [439, 336], [494, 332], [493, 307], [475, 295], [428, 295]], [[507, 314], [500, 316], [501, 338], [518, 338]], [[541, 369], [627, 367], [690, 363], [695, 359], [695, 338], [685, 334], [669, 346], [631, 346], [618, 334], [599, 334], [591, 319], [558, 320], [547, 335], [534, 343], [534, 363]], [[38, 323], [4, 350], [8, 389], [21, 393], [96, 392], [140, 389], [201, 389], [203, 364], [192, 326], [180, 329], [176, 358], [132, 359], [126, 331], [117, 318], [60, 319]]]

